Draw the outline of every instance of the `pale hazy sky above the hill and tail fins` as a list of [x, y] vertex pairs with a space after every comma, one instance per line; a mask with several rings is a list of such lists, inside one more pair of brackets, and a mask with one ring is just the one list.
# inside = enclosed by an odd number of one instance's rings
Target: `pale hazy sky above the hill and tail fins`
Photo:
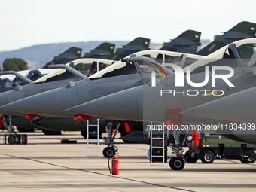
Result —
[[163, 43], [187, 29], [201, 39], [241, 21], [256, 23], [255, 0], [0, 0], [0, 51], [78, 41]]

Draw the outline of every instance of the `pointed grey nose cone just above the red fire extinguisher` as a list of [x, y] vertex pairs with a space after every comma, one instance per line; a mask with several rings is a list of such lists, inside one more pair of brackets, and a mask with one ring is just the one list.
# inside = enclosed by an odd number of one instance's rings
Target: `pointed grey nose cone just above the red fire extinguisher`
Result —
[[65, 112], [112, 120], [139, 120], [142, 118], [141, 92], [134, 87], [69, 108]]

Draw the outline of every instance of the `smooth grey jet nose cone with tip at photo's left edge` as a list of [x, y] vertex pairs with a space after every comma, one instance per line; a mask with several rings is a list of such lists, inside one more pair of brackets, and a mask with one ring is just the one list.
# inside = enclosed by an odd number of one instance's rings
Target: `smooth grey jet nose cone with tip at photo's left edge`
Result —
[[56, 112], [56, 90], [50, 90], [35, 96], [29, 96], [16, 102], [11, 102], [0, 109], [23, 114], [53, 114]]

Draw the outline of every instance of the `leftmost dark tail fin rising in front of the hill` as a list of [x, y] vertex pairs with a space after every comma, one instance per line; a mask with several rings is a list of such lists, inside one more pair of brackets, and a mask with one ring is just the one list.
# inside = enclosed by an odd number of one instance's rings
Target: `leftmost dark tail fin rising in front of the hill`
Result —
[[[53, 56], [53, 60], [47, 62], [45, 66], [54, 65], [54, 64], [62, 64], [71, 62], [75, 59], [80, 59], [81, 57], [81, 48], [78, 47], [70, 47], [68, 50], [61, 53], [59, 56]], [[45, 68], [45, 66], [43, 68]]]

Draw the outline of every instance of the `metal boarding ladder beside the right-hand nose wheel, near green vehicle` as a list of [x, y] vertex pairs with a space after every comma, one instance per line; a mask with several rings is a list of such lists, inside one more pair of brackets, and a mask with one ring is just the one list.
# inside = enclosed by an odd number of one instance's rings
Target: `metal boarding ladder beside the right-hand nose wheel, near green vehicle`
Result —
[[[151, 122], [151, 128], [148, 130], [149, 131], [149, 137], [150, 137], [150, 162], [151, 162], [151, 166], [164, 166], [165, 163], [165, 132], [167, 132], [167, 130], [165, 131], [165, 129], [162, 126], [162, 130], [157, 131], [157, 135], [155, 134], [155, 132], [153, 133], [154, 129], [152, 129], [152, 125], [153, 123]], [[159, 133], [161, 136], [159, 136]], [[167, 132], [167, 137], [168, 137], [168, 132]], [[158, 145], [156, 145], [158, 143]], [[160, 145], [159, 145], [160, 144]], [[162, 145], [161, 145], [162, 144]], [[163, 154], [153, 154], [153, 149], [162, 149]], [[153, 162], [153, 158], [154, 157], [160, 157], [162, 158], [162, 163], [154, 163]], [[153, 164], [154, 163], [154, 164]]]

